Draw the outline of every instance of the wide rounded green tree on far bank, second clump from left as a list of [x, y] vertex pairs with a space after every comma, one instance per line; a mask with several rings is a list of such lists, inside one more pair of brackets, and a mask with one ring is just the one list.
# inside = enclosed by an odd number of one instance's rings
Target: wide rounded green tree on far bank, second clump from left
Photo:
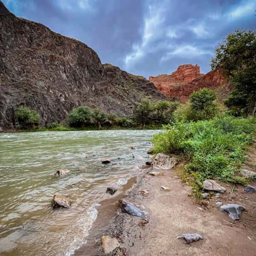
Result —
[[91, 120], [92, 114], [87, 106], [74, 108], [68, 116], [69, 125], [73, 127], [84, 127], [89, 125]]

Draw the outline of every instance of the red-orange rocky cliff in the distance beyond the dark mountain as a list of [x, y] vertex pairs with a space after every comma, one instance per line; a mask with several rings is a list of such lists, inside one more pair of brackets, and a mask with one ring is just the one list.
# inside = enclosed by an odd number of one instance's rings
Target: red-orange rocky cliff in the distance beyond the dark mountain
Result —
[[224, 99], [231, 90], [222, 70], [210, 71], [206, 75], [200, 74], [198, 65], [186, 64], [179, 66], [171, 75], [150, 76], [157, 89], [164, 95], [186, 102], [193, 91], [209, 88], [217, 91], [219, 98]]

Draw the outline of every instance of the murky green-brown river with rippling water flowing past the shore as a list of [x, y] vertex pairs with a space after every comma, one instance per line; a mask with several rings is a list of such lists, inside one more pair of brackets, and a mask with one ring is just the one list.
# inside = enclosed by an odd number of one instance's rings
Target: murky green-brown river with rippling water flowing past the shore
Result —
[[[87, 242], [100, 202], [111, 197], [107, 186], [122, 189], [140, 172], [149, 141], [158, 132], [0, 134], [0, 255], [72, 255]], [[113, 162], [104, 165], [103, 157]], [[70, 175], [56, 178], [59, 168], [70, 169]], [[55, 194], [70, 197], [71, 208], [52, 209]]]

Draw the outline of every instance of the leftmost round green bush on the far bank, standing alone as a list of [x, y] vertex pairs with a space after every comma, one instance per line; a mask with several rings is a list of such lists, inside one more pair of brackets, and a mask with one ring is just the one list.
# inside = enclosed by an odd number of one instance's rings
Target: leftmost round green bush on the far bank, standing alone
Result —
[[15, 116], [19, 122], [21, 129], [34, 128], [39, 124], [39, 114], [35, 110], [27, 107], [19, 107], [15, 111]]

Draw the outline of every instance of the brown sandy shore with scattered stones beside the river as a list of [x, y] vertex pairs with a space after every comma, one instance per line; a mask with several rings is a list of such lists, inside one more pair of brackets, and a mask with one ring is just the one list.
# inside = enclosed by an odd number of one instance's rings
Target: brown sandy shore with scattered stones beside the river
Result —
[[[209, 256], [252, 256], [256, 250], [256, 193], [244, 193], [244, 187], [223, 183], [227, 189], [220, 198], [213, 195], [196, 204], [189, 197], [191, 187], [181, 183], [176, 173], [179, 166], [172, 170], [163, 170], [164, 175], [153, 177], [142, 170], [137, 183], [128, 191], [112, 198], [112, 213], [101, 225], [97, 221], [90, 230], [89, 242], [77, 251], [76, 255], [105, 255], [101, 253], [100, 238], [103, 235], [116, 237], [126, 248], [129, 256], [158, 255], [209, 255]], [[256, 182], [251, 185], [255, 186]], [[161, 186], [171, 190], [163, 191]], [[148, 196], [140, 195], [140, 190], [147, 190]], [[233, 190], [233, 192], [232, 192]], [[121, 212], [114, 202], [125, 197], [126, 201], [143, 205], [149, 212], [148, 224], [141, 219]], [[239, 221], [233, 221], [215, 205], [240, 204], [246, 208]], [[106, 204], [106, 209], [110, 209]], [[116, 212], [117, 211], [117, 212]], [[116, 213], [115, 213], [116, 212]], [[101, 218], [99, 212], [98, 219]], [[99, 223], [99, 222], [98, 222]], [[204, 239], [187, 244], [176, 239], [182, 233], [199, 233]]]

